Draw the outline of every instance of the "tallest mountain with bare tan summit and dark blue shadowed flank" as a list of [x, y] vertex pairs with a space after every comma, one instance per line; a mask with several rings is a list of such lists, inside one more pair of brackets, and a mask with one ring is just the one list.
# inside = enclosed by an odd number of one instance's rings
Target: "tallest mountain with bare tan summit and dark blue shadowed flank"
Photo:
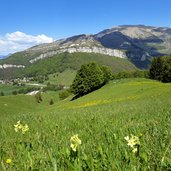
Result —
[[147, 68], [151, 57], [171, 53], [171, 29], [167, 27], [123, 25], [104, 30], [95, 38], [107, 48], [125, 50], [139, 68]]

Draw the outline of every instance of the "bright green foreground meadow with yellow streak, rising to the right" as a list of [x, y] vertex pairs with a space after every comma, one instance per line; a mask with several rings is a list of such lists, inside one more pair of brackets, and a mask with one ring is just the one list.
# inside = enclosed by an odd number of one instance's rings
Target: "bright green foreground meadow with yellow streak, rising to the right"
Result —
[[[170, 92], [171, 84], [124, 79], [75, 101], [54, 93], [40, 104], [30, 96], [0, 97], [0, 169], [170, 170]], [[14, 131], [18, 120], [29, 126], [24, 135]], [[75, 134], [78, 153], [70, 149]], [[124, 139], [131, 134], [140, 140], [135, 153]]]

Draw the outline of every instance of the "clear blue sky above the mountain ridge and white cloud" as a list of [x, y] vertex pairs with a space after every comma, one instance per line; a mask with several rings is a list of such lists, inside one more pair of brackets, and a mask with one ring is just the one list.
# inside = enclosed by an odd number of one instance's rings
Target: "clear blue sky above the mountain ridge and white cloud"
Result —
[[16, 31], [46, 42], [37, 36], [56, 40], [124, 24], [171, 27], [170, 7], [171, 0], [0, 0], [0, 42]]

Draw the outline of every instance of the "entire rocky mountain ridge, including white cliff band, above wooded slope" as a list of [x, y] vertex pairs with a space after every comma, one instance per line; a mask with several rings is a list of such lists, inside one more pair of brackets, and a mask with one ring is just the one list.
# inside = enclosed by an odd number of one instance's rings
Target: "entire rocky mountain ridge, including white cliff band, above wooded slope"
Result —
[[92, 53], [119, 57], [144, 69], [149, 67], [152, 57], [171, 53], [171, 28], [122, 25], [94, 35], [77, 35], [12, 54], [0, 60], [0, 68], [23, 70], [63, 53]]

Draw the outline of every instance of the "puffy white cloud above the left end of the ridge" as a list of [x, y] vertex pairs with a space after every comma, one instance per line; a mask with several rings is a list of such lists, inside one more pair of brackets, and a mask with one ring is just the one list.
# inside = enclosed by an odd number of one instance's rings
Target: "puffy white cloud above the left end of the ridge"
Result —
[[53, 41], [53, 38], [44, 34], [33, 36], [20, 31], [7, 33], [5, 36], [0, 37], [0, 55], [7, 55], [41, 43], [51, 43]]

